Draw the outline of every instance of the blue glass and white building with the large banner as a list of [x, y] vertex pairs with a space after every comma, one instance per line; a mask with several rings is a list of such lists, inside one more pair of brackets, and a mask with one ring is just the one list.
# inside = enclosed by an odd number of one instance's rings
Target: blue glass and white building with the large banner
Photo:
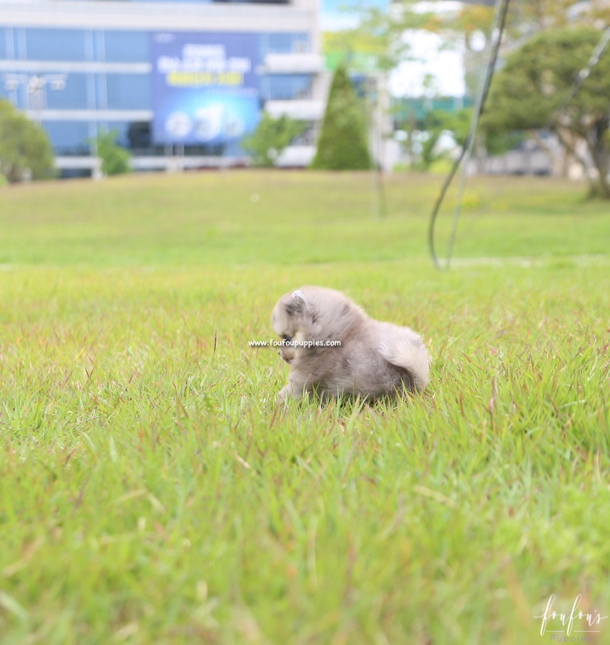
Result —
[[324, 109], [319, 0], [0, 0], [0, 98], [42, 124], [64, 176], [96, 172], [116, 132], [141, 170], [245, 163], [261, 110]]

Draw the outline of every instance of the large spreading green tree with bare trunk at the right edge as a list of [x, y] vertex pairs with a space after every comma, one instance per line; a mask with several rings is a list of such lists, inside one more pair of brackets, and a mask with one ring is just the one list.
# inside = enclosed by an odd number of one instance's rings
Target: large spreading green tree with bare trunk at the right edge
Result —
[[577, 146], [584, 141], [597, 171], [596, 177], [587, 174], [590, 192], [610, 199], [610, 50], [570, 98], [599, 38], [598, 30], [582, 26], [529, 39], [507, 57], [493, 79], [482, 127], [491, 133], [549, 128], [587, 169]]

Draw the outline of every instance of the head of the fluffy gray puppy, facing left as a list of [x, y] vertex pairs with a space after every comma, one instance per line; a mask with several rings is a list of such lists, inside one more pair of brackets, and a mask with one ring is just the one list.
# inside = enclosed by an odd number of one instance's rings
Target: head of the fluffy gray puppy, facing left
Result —
[[271, 314], [271, 325], [282, 340], [282, 347], [278, 353], [284, 361], [290, 363], [302, 350], [299, 342], [308, 337], [311, 319], [310, 304], [300, 289], [284, 293], [275, 304]]

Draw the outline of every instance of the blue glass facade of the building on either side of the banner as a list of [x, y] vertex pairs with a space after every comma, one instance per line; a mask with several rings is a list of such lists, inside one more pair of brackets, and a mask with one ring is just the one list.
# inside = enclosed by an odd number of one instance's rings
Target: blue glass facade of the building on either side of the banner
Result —
[[[311, 50], [305, 32], [256, 37], [260, 61], [266, 54]], [[41, 121], [56, 155], [90, 155], [101, 130], [117, 130], [119, 143], [134, 154], [163, 154], [164, 146], [150, 133], [151, 77], [151, 32], [0, 26], [0, 98]], [[259, 106], [269, 99], [311, 96], [310, 74], [258, 74], [257, 79]], [[201, 144], [184, 150], [187, 155], [231, 152], [237, 148]]]

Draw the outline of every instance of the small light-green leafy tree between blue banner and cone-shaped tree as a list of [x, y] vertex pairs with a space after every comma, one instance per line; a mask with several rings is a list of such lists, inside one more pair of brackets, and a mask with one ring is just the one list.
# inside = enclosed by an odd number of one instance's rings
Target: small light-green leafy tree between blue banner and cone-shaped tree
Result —
[[263, 112], [255, 130], [244, 137], [242, 148], [252, 155], [252, 165], [257, 168], [271, 168], [277, 157], [290, 142], [306, 128], [303, 121], [290, 119], [285, 114], [274, 119]]

